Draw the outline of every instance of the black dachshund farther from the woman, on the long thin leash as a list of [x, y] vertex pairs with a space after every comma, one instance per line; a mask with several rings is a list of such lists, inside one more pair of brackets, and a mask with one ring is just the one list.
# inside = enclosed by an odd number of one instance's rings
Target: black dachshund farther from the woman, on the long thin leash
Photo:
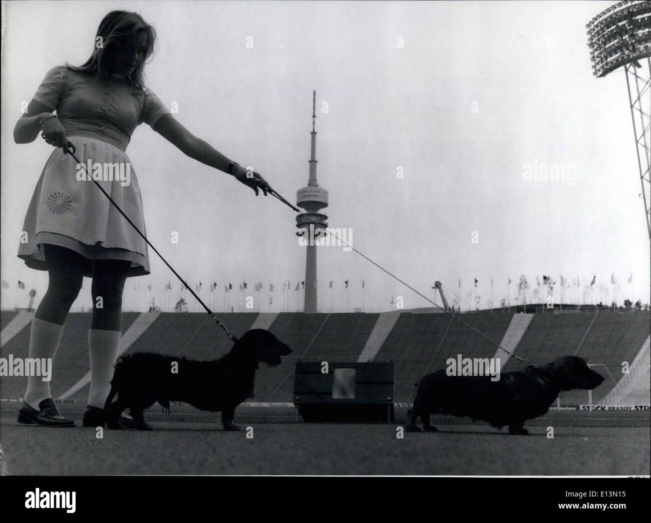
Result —
[[421, 417], [425, 431], [436, 432], [430, 414], [468, 416], [501, 429], [508, 425], [511, 434], [529, 434], [526, 420], [546, 414], [561, 390], [593, 389], [603, 376], [589, 368], [578, 356], [563, 356], [542, 367], [507, 372], [499, 381], [490, 376], [448, 376], [445, 370], [422, 377], [413, 408], [409, 410], [409, 432], [419, 432]]

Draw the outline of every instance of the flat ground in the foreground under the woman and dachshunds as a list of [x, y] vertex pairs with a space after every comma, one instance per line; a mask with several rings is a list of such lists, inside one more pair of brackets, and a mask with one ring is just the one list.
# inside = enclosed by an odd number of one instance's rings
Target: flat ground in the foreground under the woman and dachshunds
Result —
[[[531, 435], [499, 433], [483, 423], [432, 417], [439, 433], [404, 433], [396, 423], [296, 422], [286, 408], [240, 407], [240, 432], [223, 432], [219, 414], [176, 407], [146, 414], [154, 431], [81, 427], [84, 405], [62, 403], [71, 429], [16, 422], [18, 403], [3, 402], [0, 443], [9, 474], [362, 474], [626, 475], [650, 474], [649, 412], [549, 412], [525, 426]], [[554, 438], [546, 437], [553, 427]], [[247, 438], [246, 427], [253, 427]]]

